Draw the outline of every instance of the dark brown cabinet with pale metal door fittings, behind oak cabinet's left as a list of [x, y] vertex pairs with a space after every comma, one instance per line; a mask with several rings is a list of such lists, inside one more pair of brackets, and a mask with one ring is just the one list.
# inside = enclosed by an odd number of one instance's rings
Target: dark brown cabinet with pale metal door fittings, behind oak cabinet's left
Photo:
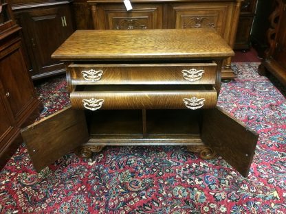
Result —
[[12, 10], [23, 28], [32, 79], [65, 73], [65, 65], [51, 54], [74, 32], [71, 1], [12, 0]]

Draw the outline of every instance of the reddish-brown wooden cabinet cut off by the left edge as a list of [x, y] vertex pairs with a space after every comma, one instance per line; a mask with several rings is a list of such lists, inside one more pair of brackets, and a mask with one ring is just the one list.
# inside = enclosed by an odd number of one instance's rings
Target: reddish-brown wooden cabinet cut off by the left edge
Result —
[[34, 122], [41, 104], [23, 55], [20, 30], [8, 1], [0, 1], [0, 168], [23, 143], [20, 128]]

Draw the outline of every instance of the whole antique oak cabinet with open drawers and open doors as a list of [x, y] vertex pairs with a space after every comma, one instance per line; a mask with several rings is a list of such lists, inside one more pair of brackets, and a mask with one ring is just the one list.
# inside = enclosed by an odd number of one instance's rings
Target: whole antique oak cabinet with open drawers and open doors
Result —
[[78, 146], [89, 157], [105, 145], [186, 145], [247, 176], [257, 134], [216, 107], [233, 54], [214, 29], [76, 31], [52, 55], [67, 64], [72, 107], [22, 132], [34, 167]]

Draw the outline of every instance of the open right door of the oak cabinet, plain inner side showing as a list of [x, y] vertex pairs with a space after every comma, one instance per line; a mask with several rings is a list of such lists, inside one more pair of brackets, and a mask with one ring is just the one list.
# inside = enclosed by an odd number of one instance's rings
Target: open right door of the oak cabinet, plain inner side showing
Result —
[[248, 176], [259, 134], [219, 107], [204, 110], [201, 139], [234, 169]]

